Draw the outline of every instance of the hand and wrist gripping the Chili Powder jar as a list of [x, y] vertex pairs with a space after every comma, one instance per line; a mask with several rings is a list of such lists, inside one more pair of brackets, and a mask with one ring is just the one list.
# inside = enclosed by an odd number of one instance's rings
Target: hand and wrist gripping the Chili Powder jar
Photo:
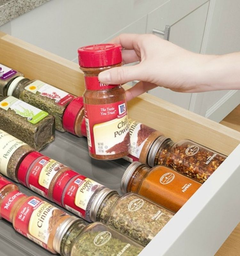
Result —
[[189, 52], [155, 35], [122, 34], [110, 43], [121, 44], [123, 64], [140, 61], [133, 66], [111, 68], [99, 74], [104, 84], [124, 84], [140, 80], [126, 91], [127, 100], [157, 86], [175, 92], [210, 91], [202, 82], [204, 67], [212, 55]]

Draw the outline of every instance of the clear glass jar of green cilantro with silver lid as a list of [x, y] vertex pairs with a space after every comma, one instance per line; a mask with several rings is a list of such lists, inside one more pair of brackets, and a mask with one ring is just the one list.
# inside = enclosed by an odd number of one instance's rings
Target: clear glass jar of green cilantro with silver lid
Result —
[[100, 222], [85, 225], [83, 220], [74, 218], [57, 229], [53, 246], [62, 256], [137, 256], [143, 249], [129, 237]]

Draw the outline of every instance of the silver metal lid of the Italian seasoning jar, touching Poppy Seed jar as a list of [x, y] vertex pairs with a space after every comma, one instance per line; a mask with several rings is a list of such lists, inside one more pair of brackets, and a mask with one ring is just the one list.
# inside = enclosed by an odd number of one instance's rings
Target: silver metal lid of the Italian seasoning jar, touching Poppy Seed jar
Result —
[[108, 196], [109, 193], [111, 193], [113, 191], [114, 190], [112, 190], [110, 188], [103, 188], [93, 198], [92, 204], [91, 204], [91, 207], [89, 210], [89, 216], [93, 222], [97, 221], [97, 212], [98, 212], [98, 209], [99, 209], [102, 201], [105, 199], [106, 196]]

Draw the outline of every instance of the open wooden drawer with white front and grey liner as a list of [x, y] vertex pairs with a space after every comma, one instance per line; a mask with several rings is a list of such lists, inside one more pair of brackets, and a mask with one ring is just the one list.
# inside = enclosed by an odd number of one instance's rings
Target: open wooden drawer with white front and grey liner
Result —
[[[75, 95], [84, 92], [83, 74], [76, 63], [4, 33], [0, 33], [0, 62], [30, 79], [42, 79]], [[214, 255], [240, 221], [240, 133], [147, 93], [130, 101], [128, 108], [129, 116], [173, 140], [188, 138], [229, 155], [140, 255]], [[128, 165], [121, 159], [91, 159], [86, 139], [68, 133], [57, 132], [43, 153], [118, 191]], [[0, 248], [0, 255], [51, 255], [4, 220], [0, 220]]]

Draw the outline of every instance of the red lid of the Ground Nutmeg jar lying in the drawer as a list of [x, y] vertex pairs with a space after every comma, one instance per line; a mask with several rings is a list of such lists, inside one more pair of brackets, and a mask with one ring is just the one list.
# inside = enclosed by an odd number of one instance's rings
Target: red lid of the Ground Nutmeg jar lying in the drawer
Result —
[[27, 186], [26, 175], [28, 172], [28, 168], [33, 163], [33, 161], [36, 160], [39, 156], [43, 155], [38, 151], [33, 151], [29, 153], [21, 162], [18, 169], [18, 181], [24, 186]]

